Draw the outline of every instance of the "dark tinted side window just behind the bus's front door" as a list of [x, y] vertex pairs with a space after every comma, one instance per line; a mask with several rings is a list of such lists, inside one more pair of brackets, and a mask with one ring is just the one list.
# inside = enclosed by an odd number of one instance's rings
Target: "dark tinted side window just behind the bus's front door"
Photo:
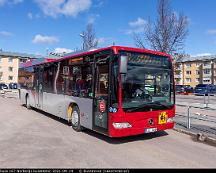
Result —
[[83, 60], [83, 58], [74, 58], [60, 62], [56, 88], [58, 93], [92, 98], [93, 59], [88, 57], [88, 61], [85, 59], [84, 63], [80, 60]]

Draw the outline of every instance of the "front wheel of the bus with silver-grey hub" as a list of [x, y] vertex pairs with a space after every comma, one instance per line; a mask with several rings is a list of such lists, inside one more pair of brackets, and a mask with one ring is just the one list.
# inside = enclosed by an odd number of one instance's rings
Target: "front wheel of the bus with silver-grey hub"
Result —
[[82, 127], [80, 125], [80, 112], [77, 106], [73, 106], [72, 108], [71, 126], [77, 132], [80, 132], [82, 130]]

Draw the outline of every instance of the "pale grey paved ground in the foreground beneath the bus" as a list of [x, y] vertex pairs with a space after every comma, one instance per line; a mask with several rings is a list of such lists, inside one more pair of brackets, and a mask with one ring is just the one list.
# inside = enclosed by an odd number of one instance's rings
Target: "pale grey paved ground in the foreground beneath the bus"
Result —
[[[215, 168], [216, 148], [174, 130], [112, 139], [0, 97], [1, 168]], [[202, 157], [200, 157], [202, 156]]]

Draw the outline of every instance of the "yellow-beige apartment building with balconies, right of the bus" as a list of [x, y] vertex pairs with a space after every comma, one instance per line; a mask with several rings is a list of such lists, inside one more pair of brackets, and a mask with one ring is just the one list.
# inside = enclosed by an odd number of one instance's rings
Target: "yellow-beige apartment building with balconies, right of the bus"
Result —
[[195, 87], [198, 84], [216, 85], [216, 56], [185, 56], [179, 60], [176, 83]]

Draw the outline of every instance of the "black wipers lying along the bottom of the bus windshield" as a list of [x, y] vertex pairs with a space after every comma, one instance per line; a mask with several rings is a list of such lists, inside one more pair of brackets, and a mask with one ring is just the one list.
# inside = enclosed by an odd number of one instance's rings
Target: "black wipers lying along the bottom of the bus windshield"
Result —
[[170, 109], [171, 106], [167, 106], [162, 104], [161, 102], [150, 102], [150, 103], [145, 103], [142, 105], [139, 105], [138, 107], [132, 107], [132, 108], [127, 108], [128, 112], [133, 112], [133, 111], [137, 111], [139, 109], [144, 109], [144, 108], [155, 108], [155, 107], [161, 107], [161, 108], [165, 108], [165, 109]]

